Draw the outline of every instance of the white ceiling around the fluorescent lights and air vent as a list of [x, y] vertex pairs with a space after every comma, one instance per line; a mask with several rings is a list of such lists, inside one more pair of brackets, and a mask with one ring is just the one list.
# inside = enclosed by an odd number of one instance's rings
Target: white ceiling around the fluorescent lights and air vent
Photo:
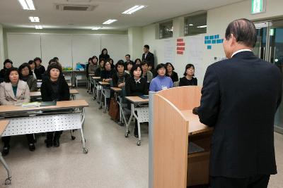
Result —
[[[128, 27], [144, 26], [178, 15], [195, 11], [208, 10], [243, 0], [33, 0], [35, 11], [25, 11], [18, 0], [0, 1], [0, 23], [6, 28], [34, 27], [29, 16], [40, 17], [40, 25], [44, 28], [91, 29], [103, 26], [103, 29], [127, 30]], [[54, 4], [89, 4], [96, 5], [93, 11], [57, 11]], [[148, 7], [132, 15], [124, 15], [123, 11], [134, 5]], [[102, 25], [105, 20], [117, 19], [111, 25]]]

